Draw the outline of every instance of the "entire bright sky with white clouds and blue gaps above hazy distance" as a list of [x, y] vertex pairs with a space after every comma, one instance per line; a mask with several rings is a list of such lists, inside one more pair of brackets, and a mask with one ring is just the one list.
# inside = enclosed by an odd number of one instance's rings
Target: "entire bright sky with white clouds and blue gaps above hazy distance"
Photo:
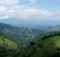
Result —
[[60, 0], [0, 0], [0, 20], [60, 21]]

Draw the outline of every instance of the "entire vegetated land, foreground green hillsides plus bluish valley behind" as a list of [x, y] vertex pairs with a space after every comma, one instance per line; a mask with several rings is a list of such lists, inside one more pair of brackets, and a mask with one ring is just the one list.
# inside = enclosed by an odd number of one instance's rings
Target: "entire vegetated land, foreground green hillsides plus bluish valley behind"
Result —
[[60, 57], [60, 30], [0, 24], [0, 57]]

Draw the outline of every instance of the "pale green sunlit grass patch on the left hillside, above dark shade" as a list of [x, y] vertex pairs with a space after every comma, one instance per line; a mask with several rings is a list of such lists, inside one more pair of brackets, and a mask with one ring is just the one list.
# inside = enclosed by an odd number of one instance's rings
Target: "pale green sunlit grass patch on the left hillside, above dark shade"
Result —
[[0, 37], [0, 46], [1, 45], [7, 46], [8, 48], [18, 48], [18, 44], [15, 41], [3, 37]]

